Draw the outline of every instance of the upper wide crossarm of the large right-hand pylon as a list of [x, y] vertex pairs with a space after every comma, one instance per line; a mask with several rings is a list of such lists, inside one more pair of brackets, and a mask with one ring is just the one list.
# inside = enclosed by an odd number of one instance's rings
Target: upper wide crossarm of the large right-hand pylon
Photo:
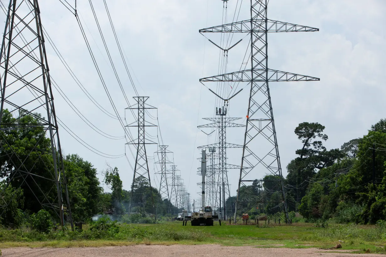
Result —
[[[266, 24], [267, 23], [267, 24]], [[267, 27], [267, 29], [266, 29]], [[251, 29], [252, 28], [252, 29]], [[315, 32], [317, 28], [292, 24], [288, 22], [280, 22], [278, 20], [269, 19], [252, 19], [242, 20], [240, 22], [232, 22], [229, 24], [218, 25], [206, 29], [200, 29], [200, 33], [207, 32], [232, 32], [232, 33], [250, 33], [250, 32]]]

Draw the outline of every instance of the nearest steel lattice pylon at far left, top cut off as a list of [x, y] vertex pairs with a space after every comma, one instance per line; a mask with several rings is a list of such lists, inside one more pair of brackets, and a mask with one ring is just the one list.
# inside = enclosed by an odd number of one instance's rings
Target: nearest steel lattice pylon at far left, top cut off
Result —
[[[6, 192], [22, 189], [25, 208], [36, 209], [32, 200], [36, 198], [62, 226], [66, 214], [73, 227], [37, 0], [9, 1], [0, 70], [0, 216], [15, 197], [7, 199]], [[30, 145], [16, 147], [14, 134]]]

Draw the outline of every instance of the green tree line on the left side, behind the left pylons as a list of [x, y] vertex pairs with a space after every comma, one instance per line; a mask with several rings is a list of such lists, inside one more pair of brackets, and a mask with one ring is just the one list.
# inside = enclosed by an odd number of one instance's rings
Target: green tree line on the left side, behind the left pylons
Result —
[[[3, 112], [2, 124], [27, 126], [36, 123], [38, 123], [37, 119], [32, 116], [23, 115], [21, 118], [14, 118], [7, 109]], [[12, 129], [10, 126], [9, 129], [1, 130], [0, 133], [2, 147], [0, 155], [0, 191], [2, 192], [2, 202], [9, 203], [0, 217], [0, 223], [6, 226], [13, 223], [17, 226], [25, 220], [25, 217], [38, 213], [43, 208], [32, 193], [34, 190], [39, 190], [37, 186], [51, 200], [55, 199], [56, 192], [52, 190], [53, 184], [49, 185], [47, 180], [39, 179], [39, 177], [34, 178], [36, 183], [28, 183], [31, 181], [23, 181], [20, 177], [11, 181], [8, 180], [15, 172], [15, 166], [20, 165], [20, 160], [26, 160], [23, 165], [31, 170], [31, 173], [49, 177], [52, 170], [42, 161], [44, 158], [38, 158], [38, 156], [42, 152], [51, 152], [51, 142], [46, 137], [44, 128], [39, 126], [25, 130]], [[16, 155], [12, 154], [11, 149]], [[33, 149], [39, 149], [39, 151]], [[30, 153], [29, 158], [27, 158], [28, 153]], [[52, 162], [52, 156], [49, 154], [44, 157], [47, 161], [51, 159]], [[111, 192], [104, 192], [97, 177], [98, 171], [89, 161], [84, 160], [77, 154], [69, 154], [63, 156], [63, 163], [74, 221], [85, 222], [94, 215], [103, 212], [127, 213], [133, 188], [130, 186], [128, 191], [123, 189], [117, 167], [112, 168], [107, 165], [107, 168], [101, 171], [104, 175], [103, 182], [111, 190]], [[27, 177], [27, 180], [31, 179]], [[6, 186], [8, 182], [9, 186]], [[34, 185], [36, 186], [34, 187]], [[150, 189], [147, 183], [139, 180], [134, 183], [131, 212], [154, 213], [151, 196], [154, 198], [157, 215], [164, 216], [168, 213], [170, 215], [171, 212], [178, 212], [171, 202], [161, 198], [156, 188], [152, 187]], [[49, 208], [46, 210], [50, 211]], [[52, 215], [52, 217], [55, 217], [55, 215]]]

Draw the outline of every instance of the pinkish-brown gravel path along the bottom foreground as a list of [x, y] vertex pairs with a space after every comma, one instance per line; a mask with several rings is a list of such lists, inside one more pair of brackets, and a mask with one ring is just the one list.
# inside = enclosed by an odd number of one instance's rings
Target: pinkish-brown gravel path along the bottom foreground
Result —
[[[353, 257], [342, 250], [339, 253], [328, 252], [315, 248], [289, 249], [289, 248], [256, 248], [251, 246], [221, 246], [221, 245], [131, 245], [118, 247], [84, 247], [84, 248], [8, 248], [3, 249], [3, 256], [28, 256], [28, 257]], [[335, 250], [336, 251], [336, 250]], [[366, 254], [366, 257], [380, 256], [379, 254]]]

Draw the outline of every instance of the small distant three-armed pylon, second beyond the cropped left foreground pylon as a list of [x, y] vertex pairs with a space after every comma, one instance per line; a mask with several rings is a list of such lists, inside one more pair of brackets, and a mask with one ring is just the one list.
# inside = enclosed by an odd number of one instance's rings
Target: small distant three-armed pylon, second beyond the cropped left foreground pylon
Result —
[[[161, 175], [161, 180], [159, 182], [159, 195], [161, 195], [161, 199], [157, 199], [157, 212], [158, 212], [158, 203], [159, 200], [162, 201], [162, 197], [165, 196], [166, 199], [170, 202], [170, 195], [169, 195], [169, 188], [168, 188], [168, 175], [170, 174], [168, 170], [166, 170], [166, 164], [171, 163], [168, 161], [166, 154], [172, 153], [171, 151], [167, 150], [168, 146], [166, 145], [160, 145], [158, 146], [159, 150], [156, 153], [161, 154], [161, 160], [157, 161], [156, 163], [159, 163], [161, 165], [161, 171], [157, 172], [156, 174]], [[169, 212], [170, 206], [168, 206], [168, 212]], [[157, 213], [156, 212], [156, 213]]]

